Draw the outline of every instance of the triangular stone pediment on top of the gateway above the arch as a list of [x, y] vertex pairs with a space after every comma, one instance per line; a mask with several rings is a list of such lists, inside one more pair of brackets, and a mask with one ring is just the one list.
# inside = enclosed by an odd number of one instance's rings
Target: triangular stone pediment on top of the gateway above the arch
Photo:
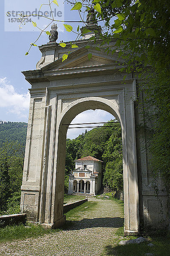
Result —
[[[88, 56], [89, 53], [92, 54], [90, 59]], [[118, 58], [118, 53], [107, 55], [106, 52], [98, 51], [95, 47], [90, 47], [89, 49], [81, 47], [76, 49], [74, 52], [71, 52], [65, 61], [62, 62], [61, 57], [45, 67], [42, 67], [42, 70], [48, 71], [75, 67], [89, 67], [102, 64], [118, 64], [120, 62], [122, 63], [123, 59]]]

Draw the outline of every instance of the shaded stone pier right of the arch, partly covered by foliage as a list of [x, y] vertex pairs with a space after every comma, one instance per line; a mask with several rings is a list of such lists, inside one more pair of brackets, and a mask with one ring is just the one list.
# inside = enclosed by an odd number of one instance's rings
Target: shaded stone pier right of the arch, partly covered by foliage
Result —
[[[165, 228], [168, 225], [168, 197], [167, 191], [160, 177], [157, 177], [157, 189], [153, 185], [156, 181], [152, 175], [149, 151], [150, 129], [152, 129], [152, 106], [147, 104], [142, 84], [137, 83], [138, 102], [135, 102], [135, 133], [138, 167], [139, 215], [141, 229]], [[157, 195], [156, 195], [157, 194]]]

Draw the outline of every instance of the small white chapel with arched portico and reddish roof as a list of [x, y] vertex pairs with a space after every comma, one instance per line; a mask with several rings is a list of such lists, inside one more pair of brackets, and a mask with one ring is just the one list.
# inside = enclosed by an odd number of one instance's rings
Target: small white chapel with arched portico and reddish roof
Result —
[[102, 161], [88, 156], [75, 160], [75, 170], [69, 175], [68, 194], [96, 195], [101, 189]]

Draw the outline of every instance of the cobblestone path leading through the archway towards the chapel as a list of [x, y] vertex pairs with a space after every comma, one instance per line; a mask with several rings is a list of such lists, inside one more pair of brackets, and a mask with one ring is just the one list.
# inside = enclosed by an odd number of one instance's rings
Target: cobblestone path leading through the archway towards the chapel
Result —
[[104, 246], [116, 238], [123, 225], [120, 205], [109, 199], [89, 198], [97, 202], [92, 210], [78, 212], [74, 225], [58, 233], [50, 233], [25, 241], [0, 245], [2, 256], [101, 256]]

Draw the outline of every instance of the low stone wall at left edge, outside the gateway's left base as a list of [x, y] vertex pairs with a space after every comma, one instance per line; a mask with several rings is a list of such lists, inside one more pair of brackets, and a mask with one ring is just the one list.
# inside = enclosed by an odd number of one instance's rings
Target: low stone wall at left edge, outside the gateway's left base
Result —
[[0, 227], [6, 227], [8, 225], [26, 224], [26, 213], [23, 214], [11, 214], [0, 216]]

